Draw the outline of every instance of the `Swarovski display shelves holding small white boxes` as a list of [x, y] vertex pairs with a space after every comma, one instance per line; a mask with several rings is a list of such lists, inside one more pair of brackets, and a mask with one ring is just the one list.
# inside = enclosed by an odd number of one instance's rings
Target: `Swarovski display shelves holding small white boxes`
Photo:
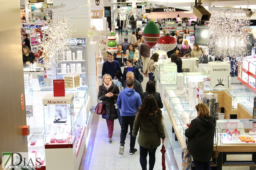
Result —
[[87, 61], [86, 61], [86, 39], [85, 38], [71, 38], [69, 40], [72, 46], [70, 51], [66, 51], [67, 55], [63, 57], [63, 60], [57, 62], [56, 68], [57, 79], [63, 79], [66, 74], [79, 74], [80, 75], [80, 87], [88, 84], [87, 79]]

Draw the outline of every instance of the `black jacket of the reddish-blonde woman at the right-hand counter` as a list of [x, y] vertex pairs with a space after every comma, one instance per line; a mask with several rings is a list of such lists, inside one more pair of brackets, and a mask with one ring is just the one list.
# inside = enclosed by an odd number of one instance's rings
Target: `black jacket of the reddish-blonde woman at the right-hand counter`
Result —
[[185, 131], [185, 136], [188, 138], [188, 149], [194, 160], [200, 162], [211, 160], [215, 126], [216, 120], [212, 116], [197, 117], [191, 121], [189, 128]]

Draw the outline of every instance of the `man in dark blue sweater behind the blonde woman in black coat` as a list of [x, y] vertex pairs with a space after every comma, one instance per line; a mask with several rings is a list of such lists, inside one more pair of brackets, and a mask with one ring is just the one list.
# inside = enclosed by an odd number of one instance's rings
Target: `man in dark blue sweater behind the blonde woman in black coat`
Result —
[[111, 53], [108, 53], [108, 61], [103, 63], [101, 76], [109, 74], [114, 79], [117, 70], [121, 71], [119, 62], [114, 60], [114, 56]]

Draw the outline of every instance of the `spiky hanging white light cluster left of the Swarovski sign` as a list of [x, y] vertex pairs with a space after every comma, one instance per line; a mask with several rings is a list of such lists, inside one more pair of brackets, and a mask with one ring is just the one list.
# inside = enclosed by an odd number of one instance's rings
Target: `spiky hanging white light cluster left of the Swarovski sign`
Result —
[[41, 44], [37, 45], [38, 51], [42, 51], [44, 64], [53, 62], [56, 68], [56, 61], [65, 59], [66, 51], [70, 51], [68, 39], [72, 35], [69, 26], [69, 19], [65, 19], [65, 5], [43, 8], [44, 16], [47, 16], [48, 27], [43, 30], [43, 39]]

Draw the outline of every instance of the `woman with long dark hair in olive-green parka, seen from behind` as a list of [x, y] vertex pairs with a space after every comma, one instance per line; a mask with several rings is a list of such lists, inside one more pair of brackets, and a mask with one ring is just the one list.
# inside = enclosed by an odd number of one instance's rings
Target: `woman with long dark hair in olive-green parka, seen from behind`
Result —
[[157, 106], [155, 97], [153, 95], [146, 96], [137, 111], [132, 131], [135, 137], [140, 129], [138, 143], [140, 145], [140, 164], [142, 170], [147, 170], [148, 155], [149, 170], [154, 168], [156, 148], [161, 144], [160, 138], [165, 139], [162, 119], [162, 111]]

